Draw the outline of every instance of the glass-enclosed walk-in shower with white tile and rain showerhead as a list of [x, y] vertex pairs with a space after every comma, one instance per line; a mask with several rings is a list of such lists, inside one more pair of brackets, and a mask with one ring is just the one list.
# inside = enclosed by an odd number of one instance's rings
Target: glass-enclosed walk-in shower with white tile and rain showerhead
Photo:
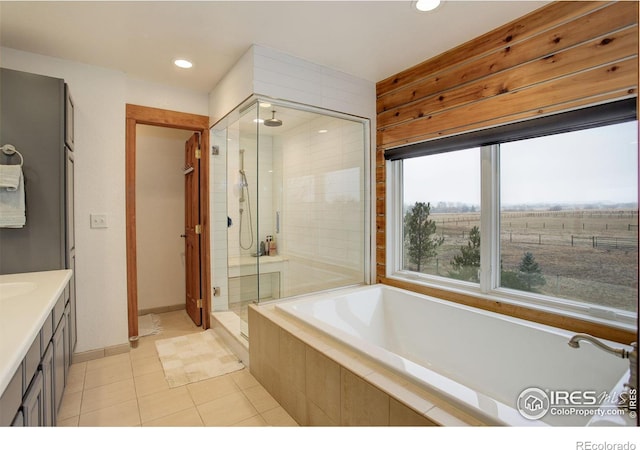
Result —
[[365, 283], [368, 134], [365, 119], [266, 99], [212, 128], [214, 311], [246, 321], [251, 302]]

